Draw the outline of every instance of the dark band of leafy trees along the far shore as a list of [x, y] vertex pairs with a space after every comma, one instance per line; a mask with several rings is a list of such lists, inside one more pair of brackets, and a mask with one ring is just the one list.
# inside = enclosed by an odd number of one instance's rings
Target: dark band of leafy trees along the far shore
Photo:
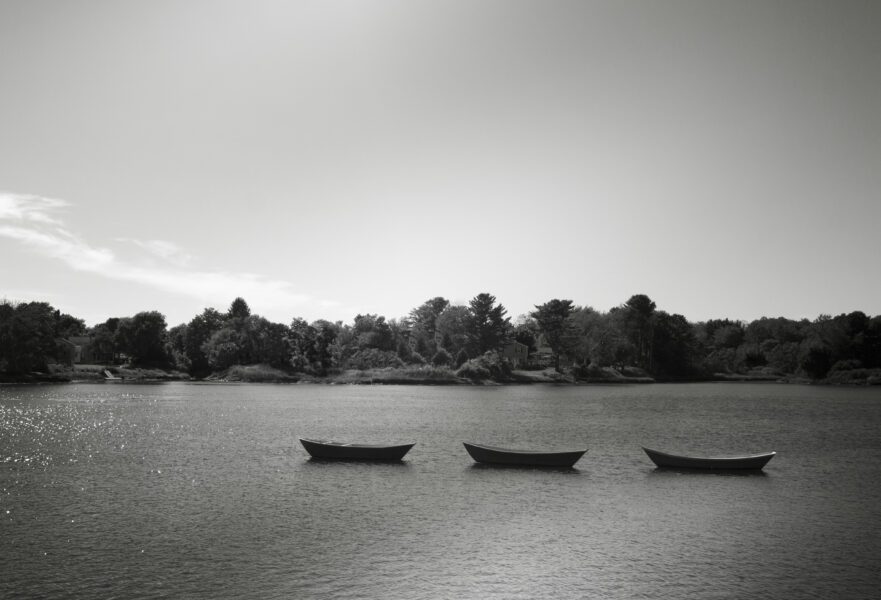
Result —
[[345, 369], [432, 365], [457, 370], [510, 369], [504, 349], [526, 347], [526, 368], [554, 367], [576, 377], [627, 369], [660, 380], [763, 372], [811, 379], [881, 368], [881, 316], [860, 311], [813, 321], [689, 322], [658, 310], [644, 294], [608, 312], [552, 299], [515, 322], [495, 296], [467, 305], [435, 297], [400, 319], [359, 314], [352, 323], [294, 318], [274, 323], [243, 298], [226, 312], [206, 308], [168, 328], [156, 311], [110, 318], [87, 328], [45, 302], [0, 302], [0, 373], [45, 370], [72, 361], [63, 340], [88, 336], [102, 363], [175, 368], [195, 377], [234, 365], [266, 364], [324, 376]]

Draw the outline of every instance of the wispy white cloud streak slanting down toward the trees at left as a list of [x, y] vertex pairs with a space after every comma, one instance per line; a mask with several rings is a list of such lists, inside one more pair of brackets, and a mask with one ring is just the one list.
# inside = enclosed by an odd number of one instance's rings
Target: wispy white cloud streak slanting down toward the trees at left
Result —
[[0, 237], [57, 259], [72, 269], [119, 281], [134, 282], [164, 291], [192, 296], [218, 304], [229, 302], [230, 294], [260, 298], [266, 308], [294, 308], [323, 304], [296, 293], [288, 281], [253, 273], [203, 271], [187, 268], [193, 257], [173, 242], [118, 238], [138, 246], [164, 262], [139, 263], [117, 256], [108, 248], [93, 246], [68, 230], [59, 217], [70, 204], [41, 196], [0, 192]]

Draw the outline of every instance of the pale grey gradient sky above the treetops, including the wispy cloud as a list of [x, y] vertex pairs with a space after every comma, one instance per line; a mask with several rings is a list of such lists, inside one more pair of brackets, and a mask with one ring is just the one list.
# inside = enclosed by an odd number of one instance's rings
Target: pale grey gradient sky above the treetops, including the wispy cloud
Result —
[[881, 314], [881, 2], [0, 0], [0, 299]]

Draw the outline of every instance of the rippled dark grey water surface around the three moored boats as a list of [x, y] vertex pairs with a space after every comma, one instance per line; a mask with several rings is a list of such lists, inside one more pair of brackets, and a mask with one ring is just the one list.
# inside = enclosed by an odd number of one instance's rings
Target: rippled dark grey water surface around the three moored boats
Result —
[[[463, 440], [589, 452], [481, 468]], [[878, 388], [0, 387], [2, 598], [877, 598], [879, 559]]]

